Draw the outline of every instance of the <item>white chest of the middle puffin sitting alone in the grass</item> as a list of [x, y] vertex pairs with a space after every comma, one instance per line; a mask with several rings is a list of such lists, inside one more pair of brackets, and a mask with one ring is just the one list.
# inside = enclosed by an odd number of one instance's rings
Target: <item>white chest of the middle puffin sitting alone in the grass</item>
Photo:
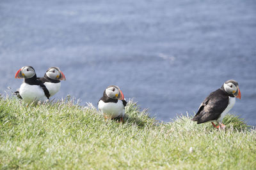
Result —
[[99, 101], [98, 104], [99, 111], [109, 118], [116, 118], [119, 116], [124, 117], [125, 109], [124, 104], [121, 100], [118, 100], [117, 103], [104, 103], [104, 101]]

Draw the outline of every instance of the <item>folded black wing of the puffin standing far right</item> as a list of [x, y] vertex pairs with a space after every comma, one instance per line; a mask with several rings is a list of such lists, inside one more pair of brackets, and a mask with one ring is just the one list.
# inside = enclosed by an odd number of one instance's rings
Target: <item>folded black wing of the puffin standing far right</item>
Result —
[[206, 97], [192, 120], [196, 121], [197, 124], [217, 120], [227, 106], [228, 96], [223, 90], [218, 89]]

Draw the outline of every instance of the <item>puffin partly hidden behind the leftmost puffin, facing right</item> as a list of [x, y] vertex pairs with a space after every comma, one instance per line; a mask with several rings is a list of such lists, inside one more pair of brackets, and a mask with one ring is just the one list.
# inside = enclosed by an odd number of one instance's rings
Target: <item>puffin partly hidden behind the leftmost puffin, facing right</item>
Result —
[[44, 83], [52, 97], [60, 90], [60, 80], [66, 80], [66, 77], [59, 67], [49, 67], [44, 76], [42, 78], [38, 78], [38, 80]]

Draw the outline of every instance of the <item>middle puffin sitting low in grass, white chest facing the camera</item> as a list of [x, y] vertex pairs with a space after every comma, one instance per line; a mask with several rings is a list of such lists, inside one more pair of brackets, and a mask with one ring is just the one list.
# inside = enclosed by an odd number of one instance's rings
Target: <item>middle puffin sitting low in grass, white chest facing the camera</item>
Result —
[[120, 88], [116, 85], [110, 85], [104, 90], [103, 96], [98, 102], [98, 109], [105, 119], [119, 118], [120, 122], [123, 122], [126, 104]]

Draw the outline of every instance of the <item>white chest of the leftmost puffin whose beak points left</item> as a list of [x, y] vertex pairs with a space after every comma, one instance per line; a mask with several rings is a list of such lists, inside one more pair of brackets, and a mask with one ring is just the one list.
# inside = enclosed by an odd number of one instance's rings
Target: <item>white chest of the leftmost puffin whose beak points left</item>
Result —
[[19, 93], [22, 99], [27, 102], [47, 100], [44, 90], [39, 85], [22, 83], [22, 85], [20, 85]]

